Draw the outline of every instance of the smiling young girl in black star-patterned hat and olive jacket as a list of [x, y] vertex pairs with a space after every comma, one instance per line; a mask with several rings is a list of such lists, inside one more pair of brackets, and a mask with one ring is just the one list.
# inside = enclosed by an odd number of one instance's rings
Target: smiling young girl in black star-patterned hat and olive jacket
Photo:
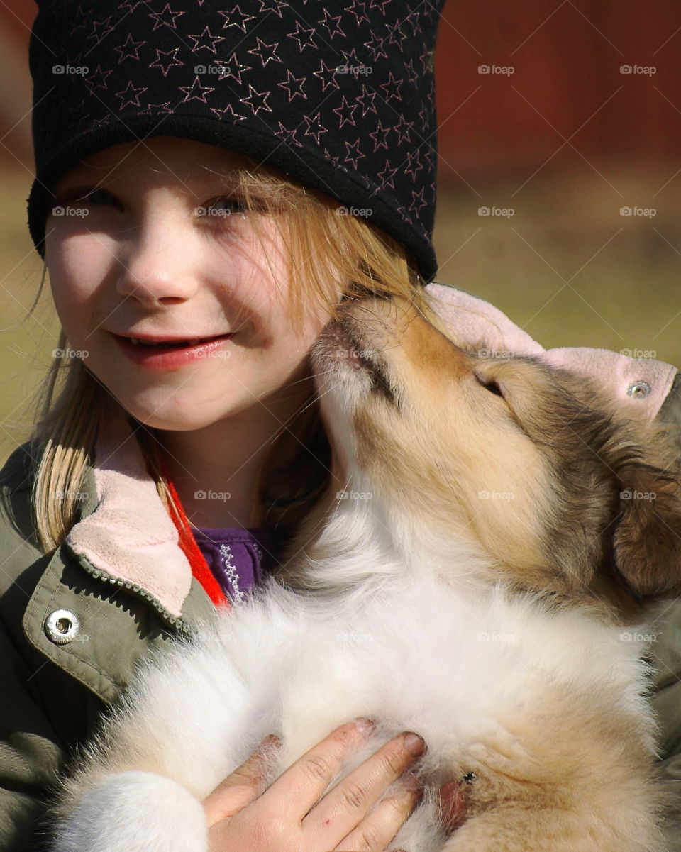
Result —
[[[334, 305], [430, 311], [440, 5], [41, 4], [29, 227], [63, 331], [2, 472], [2, 849], [49, 843], [49, 785], [136, 664], [289, 555], [330, 485], [307, 354]], [[369, 726], [262, 795], [256, 753], [205, 802], [212, 848], [384, 849], [418, 737], [322, 795]]]

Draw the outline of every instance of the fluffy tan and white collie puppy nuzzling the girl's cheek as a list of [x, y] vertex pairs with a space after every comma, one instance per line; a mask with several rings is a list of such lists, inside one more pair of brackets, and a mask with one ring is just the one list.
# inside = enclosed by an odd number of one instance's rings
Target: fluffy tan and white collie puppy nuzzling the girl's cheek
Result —
[[[201, 800], [267, 734], [271, 780], [370, 717], [353, 766], [402, 730], [427, 744], [391, 849], [658, 852], [641, 635], [681, 591], [666, 435], [584, 377], [459, 348], [406, 302], [338, 316], [313, 354], [336, 483], [311, 544], [141, 671], [64, 781], [54, 849], [205, 852]], [[467, 784], [449, 837], [447, 780]]]

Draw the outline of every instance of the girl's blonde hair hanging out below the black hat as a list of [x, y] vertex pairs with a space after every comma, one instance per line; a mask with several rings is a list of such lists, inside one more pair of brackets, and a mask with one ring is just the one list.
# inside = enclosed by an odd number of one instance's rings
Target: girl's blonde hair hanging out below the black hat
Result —
[[[423, 293], [424, 281], [401, 244], [364, 219], [339, 215], [343, 208], [325, 194], [243, 159], [234, 195], [249, 211], [247, 215], [254, 214], [251, 222], [256, 239], [258, 214], [274, 217], [286, 250], [295, 325], [302, 323], [305, 310], [313, 305], [333, 313], [338, 293], [341, 298], [361, 298], [369, 292], [403, 296], [432, 318]], [[234, 176], [231, 182], [234, 184]], [[63, 332], [59, 348], [67, 349]], [[43, 381], [31, 440], [33, 458], [39, 458], [32, 507], [44, 552], [61, 544], [78, 520], [78, 496], [84, 490], [101, 415], [105, 404], [112, 403], [115, 400], [79, 359], [55, 360]], [[149, 473], [172, 513], [155, 430], [138, 425], [141, 428], [136, 435]], [[329, 478], [330, 459], [312, 394], [274, 439], [260, 476], [258, 492], [264, 523], [274, 529], [280, 542], [296, 532], [321, 496]], [[60, 499], [55, 499], [57, 493]]]

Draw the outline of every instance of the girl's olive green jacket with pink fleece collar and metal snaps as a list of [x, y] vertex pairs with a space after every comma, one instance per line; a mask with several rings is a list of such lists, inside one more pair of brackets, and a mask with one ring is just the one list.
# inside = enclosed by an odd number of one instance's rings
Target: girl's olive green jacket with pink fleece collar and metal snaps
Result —
[[[445, 296], [449, 308], [470, 307], [472, 297], [463, 291]], [[473, 302], [476, 313], [485, 306], [497, 331], [500, 317], [510, 324], [491, 306]], [[519, 330], [511, 326], [512, 337]], [[487, 334], [482, 329], [478, 339], [489, 339]], [[503, 340], [491, 348], [504, 348]], [[579, 350], [577, 360], [598, 351]], [[565, 360], [566, 352], [557, 357]], [[603, 354], [610, 377], [612, 355]], [[650, 414], [681, 426], [681, 374], [629, 361], [615, 374], [629, 389], [632, 376], [643, 377], [638, 381], [646, 387], [662, 382], [657, 401], [649, 396]], [[112, 429], [100, 440], [115, 452], [100, 452], [97, 445], [95, 458], [107, 461], [87, 469], [78, 522], [54, 552], [43, 554], [35, 544], [31, 446], [16, 450], [0, 471], [2, 852], [41, 847], [49, 834], [41, 821], [43, 800], [65, 757], [89, 737], [136, 664], [170, 636], [191, 633], [213, 606], [191, 576], [170, 519], [161, 517], [163, 504], [130, 426]], [[116, 429], [128, 429], [130, 440]], [[681, 605], [670, 603], [665, 617], [651, 628], [657, 665], [651, 700], [661, 723], [661, 765], [681, 787]], [[681, 852], [681, 816], [670, 817], [667, 835], [670, 852]]]

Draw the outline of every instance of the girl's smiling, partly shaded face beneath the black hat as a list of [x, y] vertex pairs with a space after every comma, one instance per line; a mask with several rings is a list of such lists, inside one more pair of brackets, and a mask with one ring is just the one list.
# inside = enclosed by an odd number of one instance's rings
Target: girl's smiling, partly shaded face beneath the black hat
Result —
[[157, 429], [201, 429], [258, 402], [286, 415], [328, 319], [307, 310], [296, 330], [274, 222], [243, 212], [222, 178], [239, 164], [158, 136], [97, 153], [55, 187], [45, 258], [69, 346]]

